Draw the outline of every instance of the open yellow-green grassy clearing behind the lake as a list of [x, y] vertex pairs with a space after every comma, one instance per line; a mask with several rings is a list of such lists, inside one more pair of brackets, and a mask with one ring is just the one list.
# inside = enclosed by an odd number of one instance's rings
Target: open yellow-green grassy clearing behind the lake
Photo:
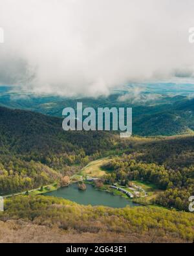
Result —
[[81, 170], [81, 175], [83, 176], [86, 175], [89, 177], [96, 177], [96, 178], [102, 177], [103, 175], [107, 174], [107, 172], [102, 169], [102, 166], [105, 163], [108, 163], [109, 161], [110, 161], [110, 158], [103, 158], [103, 159], [98, 159], [96, 161], [92, 161]]

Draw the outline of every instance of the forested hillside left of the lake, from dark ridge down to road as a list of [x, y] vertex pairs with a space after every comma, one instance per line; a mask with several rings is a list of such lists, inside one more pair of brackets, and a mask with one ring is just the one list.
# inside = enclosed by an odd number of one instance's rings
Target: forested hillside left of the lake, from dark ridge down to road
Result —
[[64, 132], [62, 119], [0, 108], [0, 193], [24, 191], [77, 172], [113, 148], [106, 132]]

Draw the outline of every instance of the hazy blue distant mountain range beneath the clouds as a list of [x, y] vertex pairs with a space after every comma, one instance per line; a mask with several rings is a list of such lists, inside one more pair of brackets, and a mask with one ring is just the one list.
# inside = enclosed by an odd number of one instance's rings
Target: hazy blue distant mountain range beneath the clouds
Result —
[[[77, 102], [85, 107], [132, 107], [133, 134], [135, 135], [177, 135], [193, 134], [194, 99], [189, 96], [192, 88], [178, 87], [173, 92], [164, 88], [166, 95], [158, 89], [149, 87], [148, 91], [134, 93], [132, 89], [114, 92], [109, 97], [98, 98], [65, 98], [50, 95], [33, 95], [14, 92], [8, 87], [0, 87], [0, 105], [8, 108], [30, 110], [54, 117], [62, 117], [65, 107], [76, 108]], [[180, 93], [180, 95], [177, 95]]]

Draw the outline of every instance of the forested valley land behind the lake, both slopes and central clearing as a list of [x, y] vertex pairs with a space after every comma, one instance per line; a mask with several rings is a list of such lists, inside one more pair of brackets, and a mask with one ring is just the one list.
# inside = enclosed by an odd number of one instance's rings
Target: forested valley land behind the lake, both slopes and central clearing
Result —
[[155, 185], [147, 194], [135, 191], [133, 200], [188, 211], [193, 193], [193, 135], [122, 140], [111, 132], [64, 132], [61, 119], [39, 113], [0, 110], [1, 195], [52, 183], [59, 187], [64, 176], [81, 174], [100, 178], [96, 188], [125, 197], [110, 186], [129, 189], [133, 181]]

